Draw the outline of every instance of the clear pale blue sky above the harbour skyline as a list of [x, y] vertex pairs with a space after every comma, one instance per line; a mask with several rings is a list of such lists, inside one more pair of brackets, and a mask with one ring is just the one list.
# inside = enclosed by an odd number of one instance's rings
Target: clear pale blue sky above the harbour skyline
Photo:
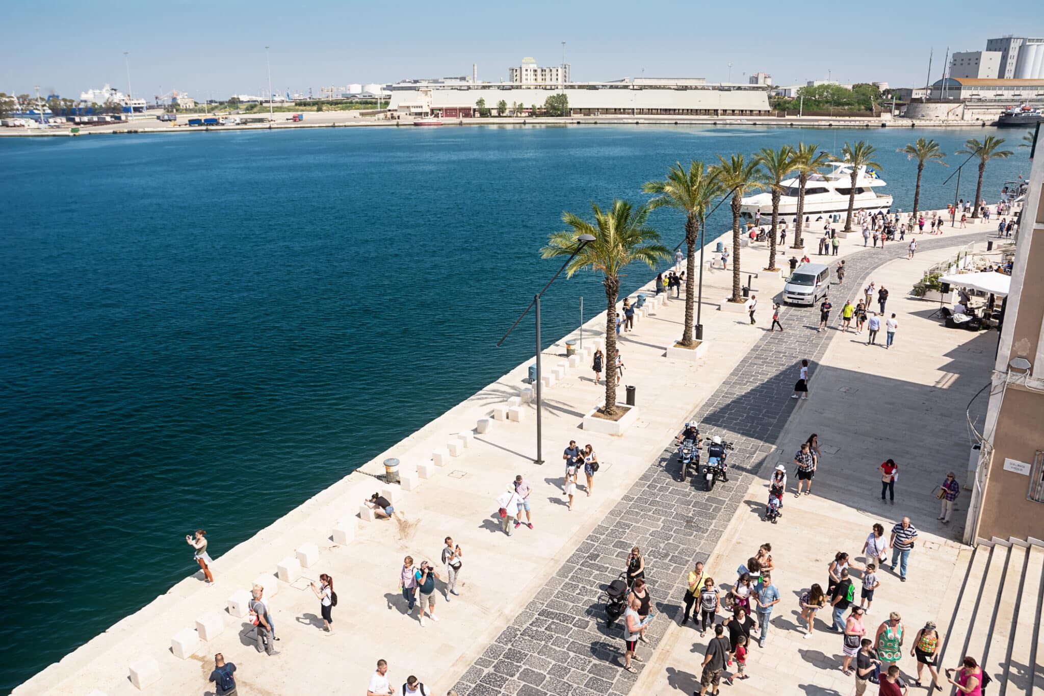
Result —
[[[826, 79], [924, 85], [943, 54], [988, 38], [1044, 34], [1039, 0], [992, 11], [981, 1], [872, 2], [325, 2], [211, 0], [102, 4], [8, 0], [0, 6], [0, 91], [32, 86], [78, 96], [110, 82], [136, 96], [160, 87], [196, 98], [272, 86], [322, 86], [470, 74], [506, 79], [523, 56], [557, 65], [561, 42], [577, 80], [767, 72], [779, 85]], [[1037, 11], [1035, 11], [1037, 10]]]

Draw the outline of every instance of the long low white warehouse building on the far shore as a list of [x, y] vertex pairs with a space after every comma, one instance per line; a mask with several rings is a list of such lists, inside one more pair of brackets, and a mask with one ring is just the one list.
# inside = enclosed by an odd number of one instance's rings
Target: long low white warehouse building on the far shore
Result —
[[397, 82], [389, 86], [390, 111], [408, 116], [470, 118], [476, 102], [507, 114], [528, 116], [548, 97], [565, 93], [571, 116], [759, 116], [769, 113], [762, 85], [707, 85], [703, 78], [636, 78], [609, 82], [568, 82], [546, 87], [517, 82]]

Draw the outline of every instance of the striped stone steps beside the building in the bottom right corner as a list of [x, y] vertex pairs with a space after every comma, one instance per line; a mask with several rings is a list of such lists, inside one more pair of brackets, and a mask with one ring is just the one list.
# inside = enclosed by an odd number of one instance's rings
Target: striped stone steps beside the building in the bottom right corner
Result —
[[[1044, 546], [980, 539], [968, 553], [964, 582], [954, 583], [956, 597], [942, 598], [953, 608], [940, 672], [971, 655], [993, 678], [990, 696], [1044, 696]], [[944, 693], [951, 691], [947, 685]]]

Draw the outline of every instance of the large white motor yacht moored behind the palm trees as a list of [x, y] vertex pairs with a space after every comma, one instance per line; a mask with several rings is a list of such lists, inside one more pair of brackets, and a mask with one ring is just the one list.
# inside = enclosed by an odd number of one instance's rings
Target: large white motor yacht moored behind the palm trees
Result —
[[[830, 162], [826, 166], [830, 168], [829, 171], [809, 175], [808, 184], [805, 186], [804, 214], [812, 216], [813, 220], [820, 215], [848, 212], [849, 195], [852, 193], [852, 167], [847, 162]], [[875, 212], [892, 208], [892, 196], [875, 191], [884, 185], [884, 179], [878, 176], [876, 171], [859, 167], [855, 179], [853, 210]], [[792, 217], [798, 214], [798, 177], [783, 179], [783, 186], [785, 190], [780, 198], [780, 215]], [[761, 211], [762, 221], [766, 217], [770, 218], [772, 193], [744, 196], [739, 211], [746, 220], [754, 219], [758, 211]]]

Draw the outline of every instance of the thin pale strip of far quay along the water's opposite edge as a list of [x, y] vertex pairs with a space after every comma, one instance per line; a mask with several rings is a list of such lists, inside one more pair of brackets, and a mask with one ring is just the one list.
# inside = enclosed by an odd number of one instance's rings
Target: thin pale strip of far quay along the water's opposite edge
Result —
[[[349, 118], [345, 120], [329, 120], [331, 116], [339, 114], [331, 112], [325, 113], [306, 112], [306, 120], [294, 123], [289, 120], [275, 121], [271, 123], [247, 124], [247, 125], [215, 125], [215, 126], [188, 126], [169, 125], [156, 120], [138, 119], [141, 125], [136, 122], [106, 124], [100, 127], [79, 126], [77, 134], [71, 133], [69, 128], [55, 129], [29, 129], [5, 127], [0, 128], [0, 137], [8, 138], [69, 138], [80, 136], [97, 135], [141, 135], [141, 134], [167, 134], [167, 133], [211, 133], [221, 130], [290, 130], [300, 128], [355, 128], [355, 127], [413, 127], [411, 120], [371, 120], [362, 118]], [[322, 122], [319, 118], [326, 117]], [[189, 118], [189, 117], [187, 117]], [[314, 120], [310, 120], [314, 119]], [[144, 127], [144, 126], [148, 127]], [[454, 118], [444, 119], [443, 126], [498, 126], [498, 125], [537, 125], [537, 126], [563, 126], [563, 125], [711, 125], [711, 126], [755, 126], [755, 127], [790, 127], [790, 128], [986, 128], [995, 127], [987, 121], [954, 121], [954, 120], [918, 120], [918, 119], [862, 119], [850, 117], [718, 117], [718, 116], [689, 116], [689, 117], [610, 117], [610, 116], [580, 116], [564, 118]]]

